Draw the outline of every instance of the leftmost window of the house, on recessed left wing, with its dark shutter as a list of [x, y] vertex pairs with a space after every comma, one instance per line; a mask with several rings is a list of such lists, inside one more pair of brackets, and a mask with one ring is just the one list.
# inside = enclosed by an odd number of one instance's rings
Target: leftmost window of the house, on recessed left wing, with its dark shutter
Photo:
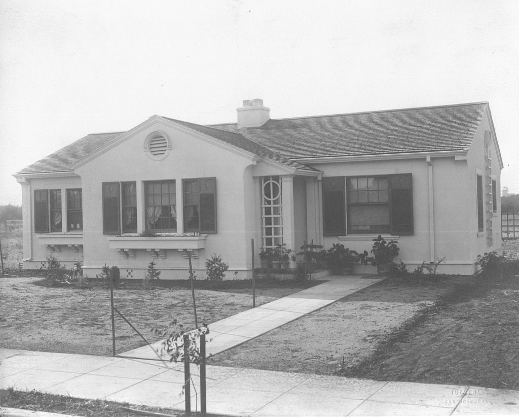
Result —
[[62, 232], [61, 190], [34, 191], [34, 232]]

